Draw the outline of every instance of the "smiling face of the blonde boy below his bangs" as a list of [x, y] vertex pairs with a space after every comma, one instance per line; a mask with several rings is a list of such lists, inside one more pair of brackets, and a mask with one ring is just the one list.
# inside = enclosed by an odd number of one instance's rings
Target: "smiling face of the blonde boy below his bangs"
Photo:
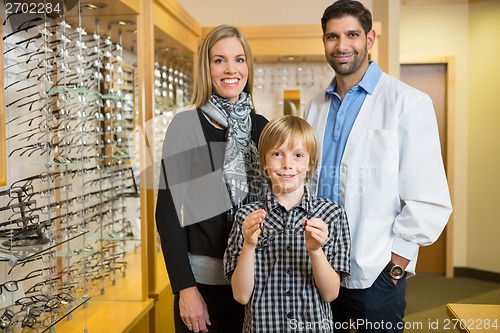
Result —
[[309, 171], [309, 153], [303, 147], [302, 140], [297, 140], [293, 149], [289, 149], [286, 140], [281, 147], [268, 151], [264, 169], [275, 195], [303, 191]]

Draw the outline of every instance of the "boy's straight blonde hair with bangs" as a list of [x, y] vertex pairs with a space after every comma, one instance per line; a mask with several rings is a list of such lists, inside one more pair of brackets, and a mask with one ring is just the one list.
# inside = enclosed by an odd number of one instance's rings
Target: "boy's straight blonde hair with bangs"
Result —
[[288, 148], [293, 149], [297, 141], [301, 140], [304, 149], [309, 154], [309, 172], [306, 181], [316, 170], [319, 158], [318, 139], [314, 129], [307, 121], [297, 116], [283, 116], [271, 120], [262, 130], [259, 139], [259, 159], [260, 169], [266, 174], [266, 154], [277, 147], [280, 147], [288, 140]]

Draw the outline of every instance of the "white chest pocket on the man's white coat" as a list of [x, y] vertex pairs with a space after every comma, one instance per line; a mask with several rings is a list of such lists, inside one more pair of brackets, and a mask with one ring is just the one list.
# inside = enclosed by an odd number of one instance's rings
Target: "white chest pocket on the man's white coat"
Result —
[[397, 131], [391, 129], [370, 130], [363, 167], [397, 171], [398, 157]]

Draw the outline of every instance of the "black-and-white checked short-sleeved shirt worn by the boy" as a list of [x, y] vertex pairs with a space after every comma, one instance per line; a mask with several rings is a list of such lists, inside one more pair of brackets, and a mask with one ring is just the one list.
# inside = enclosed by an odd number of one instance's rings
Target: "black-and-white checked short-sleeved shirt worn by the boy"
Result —
[[267, 216], [255, 248], [255, 286], [245, 308], [243, 332], [332, 332], [330, 304], [321, 300], [316, 288], [302, 221], [325, 221], [329, 234], [323, 251], [335, 271], [345, 276], [351, 240], [344, 209], [329, 199], [312, 197], [307, 187], [302, 200], [289, 211], [270, 192], [266, 201], [243, 206], [236, 213], [224, 254], [228, 280], [243, 246], [242, 223], [261, 208]]

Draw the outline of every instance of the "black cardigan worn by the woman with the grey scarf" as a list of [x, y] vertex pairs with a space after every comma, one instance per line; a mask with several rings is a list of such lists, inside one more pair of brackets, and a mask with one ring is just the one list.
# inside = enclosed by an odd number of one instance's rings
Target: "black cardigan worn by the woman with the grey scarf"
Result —
[[[257, 145], [267, 119], [255, 113], [251, 118], [252, 140]], [[219, 191], [225, 190], [221, 176], [225, 135], [200, 110], [188, 110], [175, 115], [165, 136], [156, 225], [174, 293], [196, 285], [188, 252], [222, 259], [227, 247], [231, 226], [226, 212], [200, 209], [200, 202], [212, 208], [216, 204], [211, 202], [223, 196]], [[205, 181], [212, 175], [211, 181]], [[179, 219], [181, 207], [184, 227]]]

